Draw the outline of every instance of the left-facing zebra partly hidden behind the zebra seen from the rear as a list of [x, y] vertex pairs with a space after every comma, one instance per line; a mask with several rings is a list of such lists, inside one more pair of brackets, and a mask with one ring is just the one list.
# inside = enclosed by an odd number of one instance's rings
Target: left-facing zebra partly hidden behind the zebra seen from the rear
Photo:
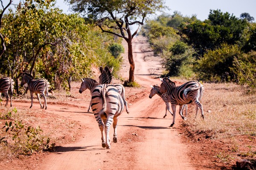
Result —
[[[90, 90], [90, 94], [93, 93], [93, 90], [94, 88], [99, 85], [99, 82], [97, 82], [96, 80], [94, 79], [90, 79], [90, 78], [83, 78], [81, 79], [82, 80], [82, 83], [81, 83], [81, 87], [79, 89], [79, 93], [82, 93], [83, 91], [85, 91], [87, 88]], [[119, 84], [119, 83], [114, 83], [113, 84], [119, 94], [122, 96], [122, 99], [124, 100], [124, 103], [125, 103], [125, 108], [126, 108], [126, 113], [129, 114], [129, 111], [128, 111], [128, 106], [127, 106], [127, 101], [125, 100], [125, 88], [123, 85]], [[90, 101], [90, 105], [89, 105], [89, 108], [88, 108], [88, 112], [90, 111], [90, 108], [91, 108], [91, 104], [92, 104], [92, 101]]]

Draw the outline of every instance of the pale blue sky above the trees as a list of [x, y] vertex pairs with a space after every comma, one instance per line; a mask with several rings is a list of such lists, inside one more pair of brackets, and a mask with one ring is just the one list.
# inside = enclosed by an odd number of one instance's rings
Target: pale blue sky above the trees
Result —
[[[210, 9], [220, 9], [221, 12], [228, 12], [236, 17], [246, 12], [251, 17], [254, 17], [256, 22], [256, 0], [165, 0], [166, 6], [169, 10], [165, 11], [167, 14], [173, 14], [174, 11], [180, 11], [183, 16], [191, 17], [193, 14], [199, 20], [208, 18]], [[69, 6], [64, 0], [57, 0], [56, 6], [61, 8], [64, 13], [70, 13]], [[160, 15], [161, 13], [157, 13]], [[152, 16], [152, 18], [156, 15]]]

